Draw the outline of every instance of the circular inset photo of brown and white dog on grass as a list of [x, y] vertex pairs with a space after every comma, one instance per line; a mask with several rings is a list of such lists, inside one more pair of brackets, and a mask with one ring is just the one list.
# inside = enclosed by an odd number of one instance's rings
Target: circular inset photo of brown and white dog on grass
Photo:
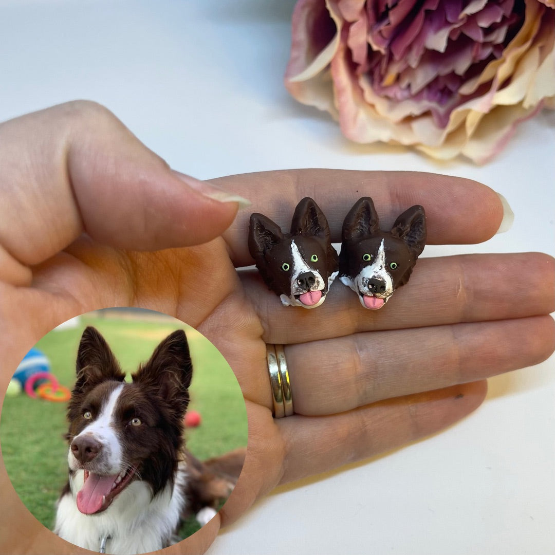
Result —
[[28, 352], [0, 435], [39, 522], [90, 551], [131, 555], [216, 514], [248, 430], [239, 384], [210, 341], [173, 317], [121, 308], [69, 320]]

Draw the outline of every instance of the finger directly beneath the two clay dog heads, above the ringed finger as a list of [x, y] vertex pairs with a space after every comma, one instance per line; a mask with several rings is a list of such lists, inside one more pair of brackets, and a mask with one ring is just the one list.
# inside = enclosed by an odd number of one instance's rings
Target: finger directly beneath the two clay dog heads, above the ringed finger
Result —
[[267, 343], [290, 344], [355, 332], [514, 319], [555, 310], [555, 260], [546, 254], [460, 255], [418, 260], [407, 285], [380, 310], [366, 310], [335, 281], [315, 310], [283, 307], [254, 272], [241, 272]]

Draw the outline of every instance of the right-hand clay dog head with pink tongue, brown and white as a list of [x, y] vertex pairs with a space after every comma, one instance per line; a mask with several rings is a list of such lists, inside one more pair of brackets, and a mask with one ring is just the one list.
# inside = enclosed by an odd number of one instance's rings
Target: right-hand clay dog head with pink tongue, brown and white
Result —
[[405, 210], [389, 232], [381, 231], [372, 199], [359, 199], [345, 217], [339, 279], [367, 309], [380, 309], [405, 285], [426, 244], [426, 215], [420, 205]]

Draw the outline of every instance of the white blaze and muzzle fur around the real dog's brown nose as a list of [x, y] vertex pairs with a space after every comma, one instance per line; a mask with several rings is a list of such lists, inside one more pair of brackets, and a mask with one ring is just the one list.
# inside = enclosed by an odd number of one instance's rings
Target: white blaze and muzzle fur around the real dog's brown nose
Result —
[[[98, 455], [85, 465], [87, 470], [99, 475], [117, 475], [120, 471], [125, 470], [122, 468], [122, 445], [115, 430], [114, 421], [115, 407], [123, 387], [123, 384], [118, 385], [110, 393], [108, 401], [100, 408], [98, 417], [73, 438], [75, 441], [78, 437], [88, 435], [102, 445]], [[69, 448], [68, 463], [72, 470], [83, 468], [82, 463], [73, 456], [71, 448]]]

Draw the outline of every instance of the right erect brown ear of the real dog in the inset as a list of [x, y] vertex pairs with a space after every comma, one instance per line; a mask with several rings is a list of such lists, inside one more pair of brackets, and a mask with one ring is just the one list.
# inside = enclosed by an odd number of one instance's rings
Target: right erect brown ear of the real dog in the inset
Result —
[[183, 330], [168, 335], [153, 352], [150, 360], [139, 366], [133, 381], [144, 385], [169, 405], [185, 412], [189, 403], [188, 388], [193, 377], [189, 344]]

